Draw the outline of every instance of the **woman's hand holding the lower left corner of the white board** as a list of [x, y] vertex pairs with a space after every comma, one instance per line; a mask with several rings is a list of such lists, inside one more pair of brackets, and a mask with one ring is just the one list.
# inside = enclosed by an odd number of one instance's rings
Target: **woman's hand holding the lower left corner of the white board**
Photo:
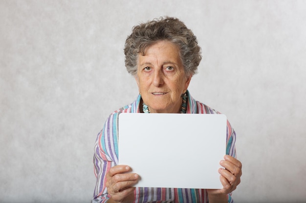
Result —
[[138, 182], [139, 176], [135, 173], [128, 173], [130, 171], [129, 166], [118, 165], [111, 167], [106, 174], [106, 187], [113, 201], [120, 203], [133, 201], [135, 187], [132, 185]]

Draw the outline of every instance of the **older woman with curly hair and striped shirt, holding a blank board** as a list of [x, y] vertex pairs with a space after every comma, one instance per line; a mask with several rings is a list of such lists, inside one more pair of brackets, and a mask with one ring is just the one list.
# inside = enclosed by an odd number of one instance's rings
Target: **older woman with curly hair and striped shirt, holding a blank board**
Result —
[[[220, 161], [222, 189], [133, 187], [139, 175], [118, 163], [120, 113], [219, 113], [196, 101], [187, 91], [201, 61], [193, 32], [177, 18], [159, 18], [133, 28], [125, 44], [125, 64], [136, 80], [136, 100], [107, 119], [95, 143], [97, 183], [92, 203], [231, 203], [240, 184], [241, 163], [236, 159], [234, 129], [227, 122], [227, 149]], [[205, 158], [203, 160], [205, 161]], [[192, 167], [192, 163], [188, 163]], [[132, 166], [131, 166], [132, 167]], [[188, 174], [185, 174], [188, 176]]]

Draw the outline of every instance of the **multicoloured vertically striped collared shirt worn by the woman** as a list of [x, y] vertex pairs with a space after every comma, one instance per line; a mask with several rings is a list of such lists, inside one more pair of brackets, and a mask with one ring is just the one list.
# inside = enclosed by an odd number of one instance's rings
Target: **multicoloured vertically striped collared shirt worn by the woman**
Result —
[[[188, 105], [186, 113], [219, 113], [196, 101], [188, 91], [187, 95]], [[106, 203], [109, 199], [105, 185], [106, 174], [111, 167], [118, 164], [118, 115], [120, 113], [140, 113], [140, 100], [141, 95], [138, 95], [133, 103], [110, 114], [103, 129], [98, 134], [93, 158], [97, 183], [91, 203]], [[228, 121], [226, 139], [226, 154], [236, 158], [236, 133]], [[192, 165], [192, 163], [188, 162], [186, 164]], [[134, 197], [134, 203], [208, 203], [206, 189], [136, 187]], [[228, 194], [228, 203], [233, 203], [231, 193]]]

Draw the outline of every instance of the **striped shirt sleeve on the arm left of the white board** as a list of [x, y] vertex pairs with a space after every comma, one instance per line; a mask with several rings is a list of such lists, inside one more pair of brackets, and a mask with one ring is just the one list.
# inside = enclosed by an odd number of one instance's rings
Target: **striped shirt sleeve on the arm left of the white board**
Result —
[[97, 182], [91, 203], [106, 203], [109, 199], [105, 185], [107, 181], [106, 174], [111, 167], [116, 166], [118, 163], [116, 124], [116, 115], [111, 115], [99, 132], [95, 142], [93, 164]]

